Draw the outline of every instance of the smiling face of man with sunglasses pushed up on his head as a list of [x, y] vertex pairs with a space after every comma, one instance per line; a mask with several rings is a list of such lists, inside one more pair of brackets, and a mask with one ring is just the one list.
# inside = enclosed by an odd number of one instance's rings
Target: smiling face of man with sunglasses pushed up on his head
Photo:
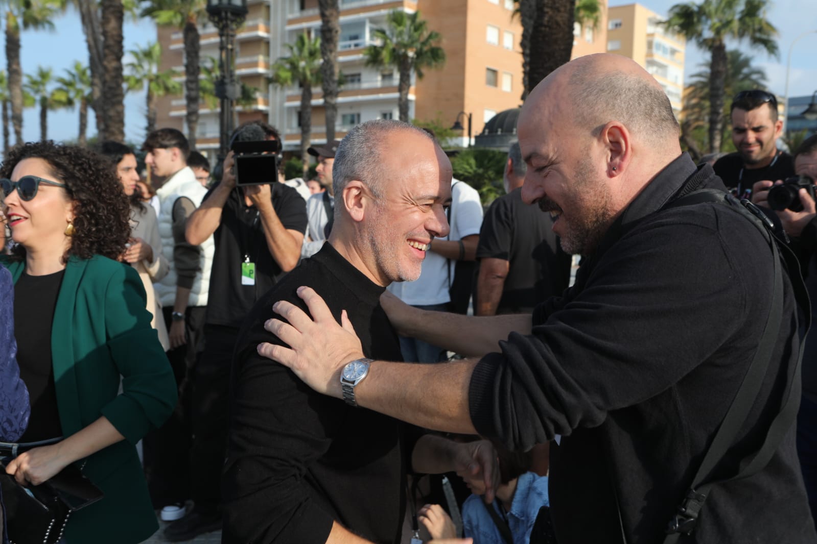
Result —
[[732, 142], [743, 164], [752, 168], [767, 166], [777, 151], [777, 139], [783, 131], [781, 120], [772, 121], [768, 104], [746, 111], [732, 110]]

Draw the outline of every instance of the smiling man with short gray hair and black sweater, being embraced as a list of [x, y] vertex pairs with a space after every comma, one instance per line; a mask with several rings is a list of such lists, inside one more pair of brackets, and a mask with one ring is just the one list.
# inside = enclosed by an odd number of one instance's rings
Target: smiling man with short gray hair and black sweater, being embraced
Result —
[[[397, 420], [355, 408], [366, 357], [400, 360], [380, 295], [392, 281], [416, 280], [431, 240], [449, 231], [451, 175], [434, 139], [404, 122], [365, 122], [338, 146], [327, 243], [261, 298], [239, 334], [221, 542], [400, 542], [406, 453], [414, 451], [414, 467], [425, 471], [418, 459], [431, 448], [451, 460], [435, 471], [465, 468], [484, 454], [439, 437], [414, 439]], [[311, 391], [256, 350], [283, 344], [264, 323], [274, 301], [299, 303], [299, 285], [322, 294], [333, 319], [359, 331], [364, 357], [347, 377], [346, 402]]]

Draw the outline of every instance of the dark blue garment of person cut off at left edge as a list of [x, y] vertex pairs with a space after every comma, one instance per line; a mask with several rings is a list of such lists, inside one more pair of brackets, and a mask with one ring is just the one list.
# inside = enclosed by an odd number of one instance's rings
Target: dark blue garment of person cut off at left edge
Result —
[[0, 442], [14, 442], [29, 425], [29, 390], [20, 379], [14, 338], [14, 282], [0, 265]]

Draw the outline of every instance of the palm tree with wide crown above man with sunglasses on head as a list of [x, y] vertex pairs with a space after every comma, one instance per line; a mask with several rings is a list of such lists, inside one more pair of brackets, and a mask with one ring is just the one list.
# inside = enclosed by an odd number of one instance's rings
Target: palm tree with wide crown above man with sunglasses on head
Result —
[[664, 25], [712, 54], [709, 63], [709, 153], [721, 148], [721, 113], [729, 59], [726, 40], [746, 40], [749, 45], [777, 55], [777, 29], [766, 20], [768, 0], [703, 0], [681, 3], [669, 10]]

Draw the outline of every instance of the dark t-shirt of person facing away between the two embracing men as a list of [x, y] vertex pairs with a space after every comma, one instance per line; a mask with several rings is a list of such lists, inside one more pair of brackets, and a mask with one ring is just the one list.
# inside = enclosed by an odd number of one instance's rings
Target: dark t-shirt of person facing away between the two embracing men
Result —
[[552, 226], [550, 215], [522, 201], [521, 188], [493, 201], [485, 213], [476, 258], [509, 262], [497, 313], [530, 312], [567, 289], [571, 257]]

